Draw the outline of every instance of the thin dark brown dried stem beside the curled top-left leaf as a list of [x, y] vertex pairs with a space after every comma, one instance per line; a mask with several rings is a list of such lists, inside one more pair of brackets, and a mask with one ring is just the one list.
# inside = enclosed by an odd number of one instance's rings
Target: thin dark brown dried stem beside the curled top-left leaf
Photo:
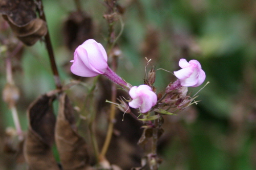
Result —
[[[46, 16], [45, 16], [45, 12], [44, 12], [44, 6], [42, 5], [41, 0], [38, 0], [38, 8], [39, 8], [39, 16], [42, 20], [46, 21]], [[47, 22], [47, 21], [46, 21]], [[56, 66], [56, 62], [55, 62], [55, 57], [54, 57], [54, 53], [53, 53], [53, 48], [52, 48], [52, 43], [51, 43], [51, 38], [50, 38], [50, 34], [49, 34], [49, 29], [47, 28], [47, 34], [45, 36], [45, 43], [46, 43], [46, 47], [47, 47], [47, 52], [48, 52], [48, 56], [50, 58], [50, 63], [51, 63], [51, 68], [53, 71], [53, 77], [54, 77], [54, 82], [55, 82], [55, 86], [57, 89], [61, 89], [61, 81], [59, 78], [59, 73], [58, 73], [58, 69]]]

